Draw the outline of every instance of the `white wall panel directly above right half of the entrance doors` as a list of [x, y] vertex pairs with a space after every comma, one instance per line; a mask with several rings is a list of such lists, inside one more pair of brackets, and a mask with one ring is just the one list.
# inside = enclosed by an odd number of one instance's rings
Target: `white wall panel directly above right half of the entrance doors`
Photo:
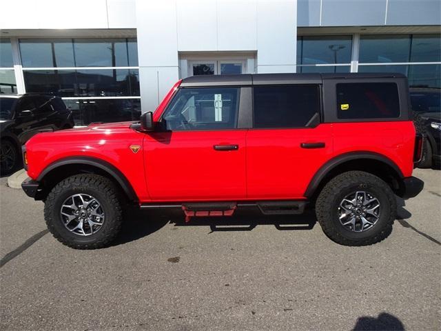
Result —
[[256, 1], [218, 1], [217, 11], [218, 50], [257, 49]]

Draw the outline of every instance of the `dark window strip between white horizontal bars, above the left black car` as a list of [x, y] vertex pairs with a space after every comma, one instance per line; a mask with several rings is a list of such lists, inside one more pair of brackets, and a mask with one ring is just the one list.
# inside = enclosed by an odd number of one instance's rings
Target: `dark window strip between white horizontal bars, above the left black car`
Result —
[[60, 97], [139, 96], [138, 70], [24, 70], [27, 92]]

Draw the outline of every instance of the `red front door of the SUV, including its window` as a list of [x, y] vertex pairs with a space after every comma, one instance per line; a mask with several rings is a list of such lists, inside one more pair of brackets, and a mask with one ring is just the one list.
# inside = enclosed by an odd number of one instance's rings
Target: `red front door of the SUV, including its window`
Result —
[[245, 136], [237, 130], [240, 88], [181, 88], [144, 139], [154, 201], [246, 197]]

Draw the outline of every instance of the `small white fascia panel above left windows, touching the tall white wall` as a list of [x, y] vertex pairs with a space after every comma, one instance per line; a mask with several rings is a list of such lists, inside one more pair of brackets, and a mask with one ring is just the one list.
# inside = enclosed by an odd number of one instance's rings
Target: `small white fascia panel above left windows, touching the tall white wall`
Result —
[[135, 0], [107, 0], [110, 29], [136, 28]]

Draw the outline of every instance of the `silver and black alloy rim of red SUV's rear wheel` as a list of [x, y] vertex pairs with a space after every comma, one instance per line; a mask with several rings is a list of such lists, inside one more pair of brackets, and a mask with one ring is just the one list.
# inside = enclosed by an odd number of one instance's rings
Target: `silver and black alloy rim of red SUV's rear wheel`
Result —
[[352, 232], [364, 232], [380, 219], [380, 201], [370, 192], [356, 191], [342, 199], [338, 207], [340, 224]]

